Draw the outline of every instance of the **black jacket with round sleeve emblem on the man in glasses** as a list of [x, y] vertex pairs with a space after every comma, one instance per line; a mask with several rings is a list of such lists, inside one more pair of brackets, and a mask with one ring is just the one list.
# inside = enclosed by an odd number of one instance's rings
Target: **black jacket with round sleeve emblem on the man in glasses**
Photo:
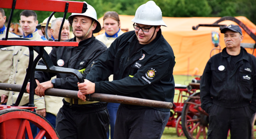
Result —
[[[151, 43], [131, 54], [137, 41], [135, 31], [119, 36], [93, 65], [86, 79], [95, 82], [95, 93], [172, 102], [175, 65], [172, 47], [161, 30]], [[113, 81], [104, 81], [111, 74]], [[158, 110], [170, 112], [170, 109]]]

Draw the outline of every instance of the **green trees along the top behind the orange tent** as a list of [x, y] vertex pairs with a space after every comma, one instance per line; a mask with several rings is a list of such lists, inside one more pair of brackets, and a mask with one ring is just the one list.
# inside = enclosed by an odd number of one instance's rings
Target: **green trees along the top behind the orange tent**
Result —
[[[84, 0], [74, 0], [84, 1]], [[116, 11], [123, 15], [135, 15], [136, 9], [148, 0], [90, 0], [98, 18], [106, 11]], [[245, 16], [256, 24], [256, 0], [154, 0], [161, 8], [163, 16], [168, 17], [223, 17]], [[12, 22], [19, 21], [22, 10], [15, 9]], [[7, 18], [11, 9], [5, 9]], [[50, 16], [51, 12], [36, 11], [39, 23]], [[67, 14], [70, 16], [71, 13]], [[63, 13], [55, 13], [55, 17], [63, 17]]]

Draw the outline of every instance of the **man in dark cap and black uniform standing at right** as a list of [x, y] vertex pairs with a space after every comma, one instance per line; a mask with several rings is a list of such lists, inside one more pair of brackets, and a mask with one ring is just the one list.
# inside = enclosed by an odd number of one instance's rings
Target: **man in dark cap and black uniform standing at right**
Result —
[[256, 112], [256, 57], [240, 46], [238, 25], [223, 28], [226, 48], [209, 59], [200, 83], [202, 109], [209, 114], [208, 139], [250, 139]]

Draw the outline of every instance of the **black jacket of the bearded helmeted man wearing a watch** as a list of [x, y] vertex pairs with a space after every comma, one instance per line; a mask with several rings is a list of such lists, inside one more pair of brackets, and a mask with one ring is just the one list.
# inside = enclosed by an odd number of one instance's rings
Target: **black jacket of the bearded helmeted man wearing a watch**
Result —
[[[75, 42], [76, 38], [65, 41]], [[86, 78], [92, 65], [106, 49], [106, 45], [92, 36], [91, 38], [80, 41], [78, 47], [54, 47], [49, 56], [54, 66], [78, 70], [82, 73], [83, 77]], [[45, 64], [41, 60], [38, 65]], [[39, 80], [40, 83], [49, 81], [55, 75], [57, 75], [57, 78], [55, 78], [54, 88], [78, 90], [78, 79], [72, 74], [35, 72], [35, 78]]]

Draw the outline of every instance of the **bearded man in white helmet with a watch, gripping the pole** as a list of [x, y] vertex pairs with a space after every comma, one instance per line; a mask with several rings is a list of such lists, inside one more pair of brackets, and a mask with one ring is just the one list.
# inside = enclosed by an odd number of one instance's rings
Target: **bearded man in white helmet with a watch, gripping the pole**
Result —
[[[86, 2], [85, 2], [86, 3]], [[86, 3], [87, 4], [87, 3]], [[106, 51], [106, 46], [95, 39], [93, 33], [101, 30], [95, 9], [87, 4], [85, 13], [72, 13], [68, 17], [74, 38], [65, 40], [79, 42], [78, 47], [53, 48], [49, 56], [55, 66], [78, 70], [83, 77], [89, 73], [99, 56]], [[39, 65], [44, 65], [39, 61]], [[57, 78], [50, 81], [51, 77]], [[35, 94], [44, 96], [48, 88], [78, 90], [78, 79], [71, 74], [35, 72], [37, 87]], [[29, 88], [29, 84], [27, 85]], [[29, 90], [27, 90], [29, 92]], [[63, 99], [63, 106], [56, 117], [56, 131], [60, 139], [107, 139], [109, 115], [107, 103]]]

